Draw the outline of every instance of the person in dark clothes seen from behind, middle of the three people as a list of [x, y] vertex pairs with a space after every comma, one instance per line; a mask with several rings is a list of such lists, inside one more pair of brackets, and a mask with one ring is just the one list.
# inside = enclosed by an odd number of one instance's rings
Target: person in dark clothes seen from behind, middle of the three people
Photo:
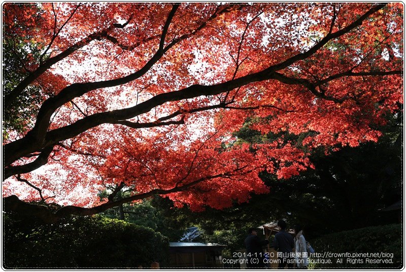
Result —
[[295, 247], [293, 237], [286, 232], [284, 220], [279, 220], [277, 227], [279, 232], [275, 235], [274, 248], [278, 251], [278, 269], [284, 269], [286, 265], [288, 268], [293, 268], [293, 248]]

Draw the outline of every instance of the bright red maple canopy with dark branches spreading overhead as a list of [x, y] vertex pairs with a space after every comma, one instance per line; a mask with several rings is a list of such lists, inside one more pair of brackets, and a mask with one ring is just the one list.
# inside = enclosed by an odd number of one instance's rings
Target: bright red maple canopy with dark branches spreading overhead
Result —
[[[221, 209], [268, 192], [261, 171], [289, 178], [316, 148], [377, 141], [403, 103], [402, 16], [401, 3], [6, 3], [5, 207], [52, 221], [157, 194]], [[263, 140], [236, 139], [243, 126]]]

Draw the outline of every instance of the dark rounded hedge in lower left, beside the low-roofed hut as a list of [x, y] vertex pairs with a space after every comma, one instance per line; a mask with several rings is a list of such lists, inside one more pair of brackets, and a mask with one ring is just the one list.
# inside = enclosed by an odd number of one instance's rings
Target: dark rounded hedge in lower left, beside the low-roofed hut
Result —
[[4, 216], [3, 267], [137, 268], [168, 262], [169, 242], [153, 229], [101, 216], [57, 224]]

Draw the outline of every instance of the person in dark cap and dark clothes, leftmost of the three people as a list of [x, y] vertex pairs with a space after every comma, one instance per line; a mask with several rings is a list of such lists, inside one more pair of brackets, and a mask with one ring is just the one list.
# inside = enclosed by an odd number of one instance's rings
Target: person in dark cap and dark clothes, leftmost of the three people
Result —
[[269, 244], [268, 240], [260, 240], [257, 229], [250, 228], [248, 236], [244, 240], [245, 248], [247, 249], [247, 268], [264, 268], [265, 255], [262, 246]]

